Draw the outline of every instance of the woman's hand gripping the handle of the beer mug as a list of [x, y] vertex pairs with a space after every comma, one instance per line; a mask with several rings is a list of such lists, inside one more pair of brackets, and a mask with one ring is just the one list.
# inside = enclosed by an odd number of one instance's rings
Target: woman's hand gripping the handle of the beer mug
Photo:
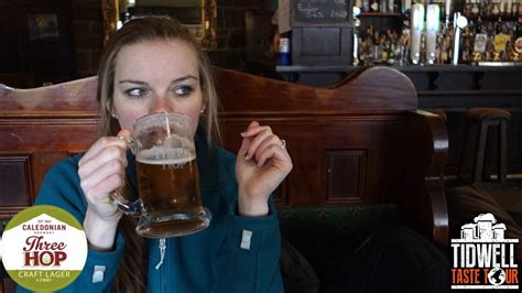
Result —
[[80, 186], [88, 203], [84, 229], [94, 248], [110, 249], [122, 213], [109, 198], [111, 192], [124, 185], [127, 142], [129, 130], [121, 130], [119, 138], [97, 140], [78, 162]]

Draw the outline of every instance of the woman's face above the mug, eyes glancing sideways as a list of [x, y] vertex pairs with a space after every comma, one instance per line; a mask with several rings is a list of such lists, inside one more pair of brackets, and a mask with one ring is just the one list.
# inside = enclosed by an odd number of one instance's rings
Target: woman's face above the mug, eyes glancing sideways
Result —
[[112, 113], [132, 131], [140, 117], [156, 112], [189, 116], [195, 133], [205, 109], [194, 51], [183, 41], [146, 41], [121, 48], [116, 58]]

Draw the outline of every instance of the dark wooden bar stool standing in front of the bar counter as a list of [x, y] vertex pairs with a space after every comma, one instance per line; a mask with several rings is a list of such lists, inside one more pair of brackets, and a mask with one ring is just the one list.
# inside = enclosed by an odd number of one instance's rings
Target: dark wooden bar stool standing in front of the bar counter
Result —
[[[460, 155], [458, 167], [458, 177], [464, 180], [464, 169], [467, 163], [467, 153], [471, 153], [472, 169], [471, 183], [480, 183], [483, 175], [486, 142], [488, 141], [489, 127], [498, 129], [498, 169], [497, 178], [500, 183], [505, 183], [507, 177], [507, 152], [508, 152], [508, 121], [511, 120], [511, 113], [504, 109], [498, 108], [471, 108], [466, 111], [467, 127], [466, 141]], [[475, 130], [475, 133], [474, 133]], [[474, 141], [475, 139], [475, 141]]]

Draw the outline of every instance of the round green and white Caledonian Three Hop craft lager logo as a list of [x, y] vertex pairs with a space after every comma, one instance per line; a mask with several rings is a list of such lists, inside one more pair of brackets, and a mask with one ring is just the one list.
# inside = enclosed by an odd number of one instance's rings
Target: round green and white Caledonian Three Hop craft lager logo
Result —
[[70, 284], [87, 260], [87, 238], [68, 211], [33, 206], [20, 211], [2, 236], [3, 267], [31, 291], [57, 291]]

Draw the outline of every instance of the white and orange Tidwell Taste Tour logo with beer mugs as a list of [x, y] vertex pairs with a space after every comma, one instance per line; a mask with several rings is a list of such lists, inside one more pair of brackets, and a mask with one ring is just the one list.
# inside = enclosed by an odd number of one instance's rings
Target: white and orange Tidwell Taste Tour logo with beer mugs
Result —
[[519, 289], [519, 239], [505, 239], [504, 232], [505, 225], [489, 213], [461, 227], [460, 239], [452, 239], [452, 289]]

